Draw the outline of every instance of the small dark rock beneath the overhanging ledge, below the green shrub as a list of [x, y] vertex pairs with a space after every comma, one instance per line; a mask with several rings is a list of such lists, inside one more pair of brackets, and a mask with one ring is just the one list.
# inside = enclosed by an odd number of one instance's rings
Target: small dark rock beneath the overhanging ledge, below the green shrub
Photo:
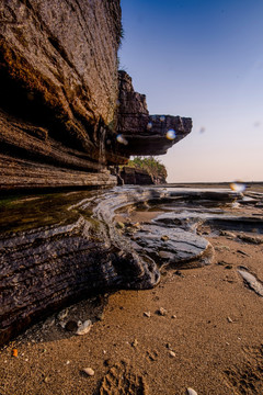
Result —
[[117, 174], [118, 185], [151, 185], [153, 180], [147, 170], [124, 166]]

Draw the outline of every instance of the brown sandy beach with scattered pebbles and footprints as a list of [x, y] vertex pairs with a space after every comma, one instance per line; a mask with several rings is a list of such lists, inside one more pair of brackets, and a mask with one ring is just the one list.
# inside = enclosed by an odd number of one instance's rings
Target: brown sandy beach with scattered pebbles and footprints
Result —
[[192, 387], [198, 395], [262, 395], [263, 297], [238, 267], [263, 280], [263, 245], [208, 239], [215, 257], [207, 267], [169, 268], [153, 290], [71, 306], [64, 321], [91, 317], [88, 335], [75, 336], [52, 317], [8, 345], [0, 394], [183, 395]]

